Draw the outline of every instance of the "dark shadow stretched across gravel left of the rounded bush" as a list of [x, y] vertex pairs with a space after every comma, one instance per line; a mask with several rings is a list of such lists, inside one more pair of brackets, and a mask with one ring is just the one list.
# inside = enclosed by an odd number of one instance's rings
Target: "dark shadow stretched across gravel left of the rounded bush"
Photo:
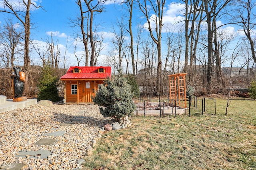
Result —
[[96, 118], [91, 116], [83, 116], [83, 115], [67, 115], [63, 113], [53, 113], [54, 120], [58, 121], [62, 124], [87, 124], [88, 126], [98, 126], [102, 125], [105, 121], [103, 118]]

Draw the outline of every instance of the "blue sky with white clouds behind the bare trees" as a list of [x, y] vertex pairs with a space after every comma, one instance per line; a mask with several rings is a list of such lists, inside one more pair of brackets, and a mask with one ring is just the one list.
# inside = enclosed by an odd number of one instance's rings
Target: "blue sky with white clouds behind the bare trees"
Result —
[[[1, 4], [0, 0], [0, 4]], [[13, 2], [19, 2], [21, 0], [12, 0]], [[55, 37], [55, 40], [59, 41], [60, 50], [61, 53], [64, 53], [66, 42], [68, 41], [69, 45], [72, 45], [74, 43], [74, 32], [77, 32], [77, 28], [72, 27], [70, 24], [70, 20], [72, 18], [75, 18], [78, 15], [78, 6], [76, 5], [76, 0], [32, 0], [32, 2], [36, 3], [37, 5], [41, 5], [43, 9], [33, 9], [31, 11], [31, 23], [32, 29], [31, 29], [31, 39], [34, 41], [37, 41], [38, 43], [41, 43], [44, 45], [45, 40], [49, 38], [51, 34], [53, 34]], [[83, 2], [83, 0], [82, 0]], [[0, 5], [0, 9], [2, 6]], [[164, 10], [164, 25], [171, 25], [174, 24], [177, 21], [184, 20], [184, 16], [182, 15], [184, 12], [182, 10], [184, 9], [184, 4], [174, 4], [171, 1], [166, 1], [166, 6]], [[123, 10], [123, 11], [122, 11]], [[112, 27], [114, 23], [116, 22], [117, 18], [121, 18], [122, 13], [125, 12], [125, 9], [122, 9], [122, 6], [120, 3], [114, 4], [114, 1], [108, 1], [108, 4], [105, 5], [104, 12], [101, 14], [95, 15], [94, 24], [100, 24], [98, 32], [101, 32], [105, 35], [104, 39], [104, 50], [101, 53], [102, 59], [104, 58], [104, 55], [108, 51], [110, 51], [110, 43], [112, 40]], [[11, 16], [8, 14], [0, 13], [0, 26], [4, 24], [5, 19], [11, 17], [14, 19], [15, 22], [15, 16]], [[126, 20], [126, 18], [125, 18]], [[127, 18], [128, 20], [128, 18]], [[222, 25], [225, 20], [218, 20], [217, 24]], [[147, 23], [143, 18], [143, 15], [141, 12], [138, 12], [138, 10], [134, 10], [133, 13], [133, 23], [132, 26], [135, 29], [138, 24], [146, 26]], [[177, 31], [179, 28], [182, 28], [183, 22], [179, 22], [176, 24]], [[203, 23], [204, 24], [204, 23]], [[225, 27], [221, 27], [220, 30], [225, 30], [226, 32], [232, 33], [238, 33], [238, 29], [233, 27], [233, 25], [227, 25]], [[146, 31], [145, 31], [146, 32]], [[165, 29], [163, 29], [163, 37], [165, 36]], [[163, 39], [164, 41], [164, 39]], [[80, 44], [81, 45], [81, 44]], [[164, 48], [162, 49], [164, 53]], [[82, 53], [82, 50], [81, 50]], [[74, 59], [74, 50], [70, 48], [68, 50], [68, 56], [70, 58], [68, 59], [68, 66], [77, 65], [76, 61]], [[40, 59], [35, 53], [31, 53], [31, 59], [34, 62], [34, 64], [40, 64]], [[103, 65], [104, 63], [98, 63], [100, 65]]]

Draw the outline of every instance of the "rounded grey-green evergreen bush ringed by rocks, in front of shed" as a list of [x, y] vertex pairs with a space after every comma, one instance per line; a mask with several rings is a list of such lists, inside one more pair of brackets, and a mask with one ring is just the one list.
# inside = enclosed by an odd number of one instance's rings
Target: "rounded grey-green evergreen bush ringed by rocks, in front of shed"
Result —
[[101, 106], [100, 113], [104, 117], [113, 117], [120, 121], [126, 115], [132, 115], [136, 108], [132, 97], [132, 88], [119, 70], [118, 75], [104, 82], [93, 102]]

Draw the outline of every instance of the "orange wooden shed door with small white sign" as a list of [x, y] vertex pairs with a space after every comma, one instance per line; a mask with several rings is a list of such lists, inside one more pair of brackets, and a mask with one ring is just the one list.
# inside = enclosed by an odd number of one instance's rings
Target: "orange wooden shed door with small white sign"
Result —
[[[82, 92], [81, 92], [82, 91]], [[82, 90], [79, 93], [79, 101], [81, 102], [92, 102], [92, 96], [94, 93], [94, 81], [82, 82]]]

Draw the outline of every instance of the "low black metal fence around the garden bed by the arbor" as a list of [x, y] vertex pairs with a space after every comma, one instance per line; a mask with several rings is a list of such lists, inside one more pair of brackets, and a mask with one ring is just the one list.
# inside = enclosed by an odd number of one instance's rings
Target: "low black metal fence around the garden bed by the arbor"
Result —
[[[184, 100], [183, 100], [184, 101]], [[176, 100], [134, 100], [136, 116], [162, 116], [162, 115], [204, 115], [216, 114], [216, 100], [214, 98], [202, 98], [192, 96], [186, 100], [186, 108], [176, 106]]]

